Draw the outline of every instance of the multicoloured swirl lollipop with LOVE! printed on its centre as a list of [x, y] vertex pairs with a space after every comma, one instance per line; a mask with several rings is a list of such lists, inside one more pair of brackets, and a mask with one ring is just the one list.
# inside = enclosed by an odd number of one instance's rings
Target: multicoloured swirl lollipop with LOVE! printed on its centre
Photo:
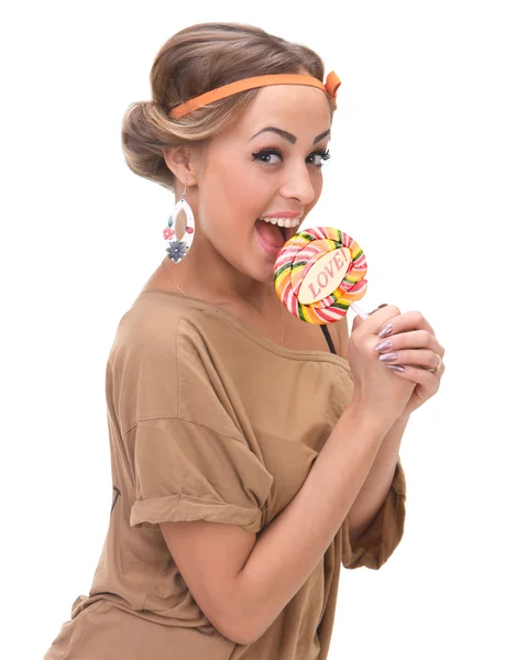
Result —
[[292, 237], [275, 262], [277, 297], [298, 319], [320, 326], [342, 319], [366, 293], [366, 260], [351, 237], [333, 227], [314, 227]]

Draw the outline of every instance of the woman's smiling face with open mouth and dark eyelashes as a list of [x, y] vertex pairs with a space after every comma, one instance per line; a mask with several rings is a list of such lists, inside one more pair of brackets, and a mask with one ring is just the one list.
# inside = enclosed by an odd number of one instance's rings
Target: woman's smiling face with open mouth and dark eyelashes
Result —
[[[321, 90], [270, 86], [206, 146], [198, 177], [199, 227], [243, 275], [272, 279], [279, 249], [317, 204], [330, 122]], [[299, 223], [282, 229], [259, 220], [283, 213]]]

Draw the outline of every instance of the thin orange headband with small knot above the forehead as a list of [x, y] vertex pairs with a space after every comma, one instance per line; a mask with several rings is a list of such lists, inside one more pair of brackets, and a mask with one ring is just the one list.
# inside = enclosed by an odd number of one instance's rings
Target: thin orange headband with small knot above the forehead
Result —
[[213, 101], [219, 101], [239, 91], [246, 91], [248, 89], [255, 89], [256, 87], [266, 87], [267, 85], [308, 85], [310, 87], [317, 87], [329, 96], [332, 101], [333, 110], [337, 109], [337, 89], [340, 87], [340, 78], [334, 72], [330, 72], [326, 78], [326, 82], [322, 84], [320, 80], [312, 76], [305, 76], [303, 74], [276, 74], [272, 76], [254, 76], [253, 78], [244, 78], [243, 80], [237, 80], [222, 87], [217, 87], [205, 94], [200, 94], [185, 103], [176, 106], [169, 113], [168, 117], [172, 119], [178, 119], [185, 114], [189, 114], [201, 106], [208, 106]]

